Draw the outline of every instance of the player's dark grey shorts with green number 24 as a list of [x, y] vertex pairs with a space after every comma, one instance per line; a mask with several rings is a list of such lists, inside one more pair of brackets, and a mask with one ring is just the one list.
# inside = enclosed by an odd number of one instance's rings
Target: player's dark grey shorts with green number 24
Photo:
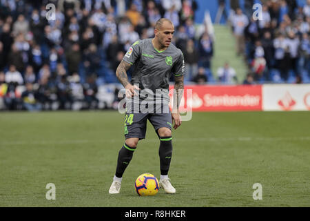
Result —
[[157, 135], [157, 130], [159, 128], [166, 127], [172, 130], [172, 115], [169, 111], [169, 108], [167, 108], [166, 110], [167, 111], [162, 111], [161, 113], [156, 113], [155, 111], [153, 111], [152, 113], [134, 113], [133, 111], [127, 111], [125, 114], [124, 122], [125, 139], [144, 139], [147, 128], [147, 119], [149, 119], [149, 122], [154, 126]]

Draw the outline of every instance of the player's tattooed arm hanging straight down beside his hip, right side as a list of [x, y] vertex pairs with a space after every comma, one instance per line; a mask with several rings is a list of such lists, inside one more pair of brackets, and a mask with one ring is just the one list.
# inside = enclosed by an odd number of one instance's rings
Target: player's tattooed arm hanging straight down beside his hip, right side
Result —
[[172, 119], [174, 121], [174, 129], [178, 128], [182, 123], [180, 119], [180, 101], [183, 97], [184, 91], [184, 76], [175, 76], [174, 83], [174, 97], [173, 97], [173, 106], [172, 106]]

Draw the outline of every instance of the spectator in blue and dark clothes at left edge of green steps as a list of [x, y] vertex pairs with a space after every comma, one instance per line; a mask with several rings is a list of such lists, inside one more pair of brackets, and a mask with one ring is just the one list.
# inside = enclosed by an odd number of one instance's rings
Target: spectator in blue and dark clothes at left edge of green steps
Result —
[[213, 57], [213, 42], [211, 41], [207, 32], [204, 32], [198, 41], [198, 51], [198, 64], [204, 68], [210, 68], [211, 57]]

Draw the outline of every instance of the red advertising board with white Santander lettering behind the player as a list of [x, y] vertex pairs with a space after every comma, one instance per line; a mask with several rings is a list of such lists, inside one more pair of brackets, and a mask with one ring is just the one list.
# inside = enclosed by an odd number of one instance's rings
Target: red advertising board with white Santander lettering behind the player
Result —
[[[170, 89], [170, 99], [172, 89]], [[192, 89], [192, 96], [187, 90]], [[189, 93], [190, 94], [190, 93]], [[185, 86], [184, 103], [189, 111], [262, 111], [262, 86]], [[188, 105], [188, 106], [187, 106]]]

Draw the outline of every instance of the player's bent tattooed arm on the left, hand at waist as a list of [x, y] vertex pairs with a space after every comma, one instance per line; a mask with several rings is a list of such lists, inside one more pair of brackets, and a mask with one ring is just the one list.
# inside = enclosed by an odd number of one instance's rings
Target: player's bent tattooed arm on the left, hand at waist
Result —
[[133, 97], [134, 95], [137, 95], [134, 90], [140, 90], [140, 88], [138, 88], [137, 86], [132, 86], [132, 84], [130, 84], [130, 82], [128, 81], [126, 71], [129, 70], [130, 66], [131, 64], [122, 60], [116, 69], [116, 77], [126, 89], [127, 97]]

